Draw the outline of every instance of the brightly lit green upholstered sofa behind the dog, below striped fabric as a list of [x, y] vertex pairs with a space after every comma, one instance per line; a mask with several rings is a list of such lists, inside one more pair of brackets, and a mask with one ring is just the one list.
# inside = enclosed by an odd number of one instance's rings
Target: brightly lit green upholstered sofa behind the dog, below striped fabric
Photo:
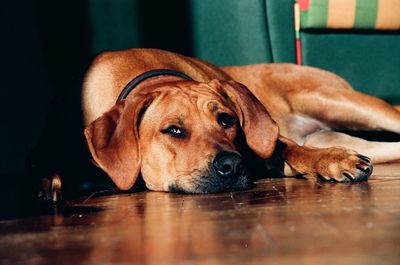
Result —
[[[192, 1], [195, 55], [218, 65], [295, 63], [293, 2]], [[304, 65], [332, 71], [357, 90], [400, 103], [400, 31], [305, 29], [300, 36]]]

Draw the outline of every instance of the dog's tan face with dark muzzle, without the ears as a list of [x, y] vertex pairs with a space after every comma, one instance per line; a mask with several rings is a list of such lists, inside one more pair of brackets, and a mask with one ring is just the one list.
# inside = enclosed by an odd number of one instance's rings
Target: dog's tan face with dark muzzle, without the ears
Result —
[[141, 172], [148, 188], [185, 192], [245, 188], [234, 144], [238, 130], [234, 110], [203, 84], [195, 89], [175, 84], [165, 90], [146, 110], [139, 127]]

